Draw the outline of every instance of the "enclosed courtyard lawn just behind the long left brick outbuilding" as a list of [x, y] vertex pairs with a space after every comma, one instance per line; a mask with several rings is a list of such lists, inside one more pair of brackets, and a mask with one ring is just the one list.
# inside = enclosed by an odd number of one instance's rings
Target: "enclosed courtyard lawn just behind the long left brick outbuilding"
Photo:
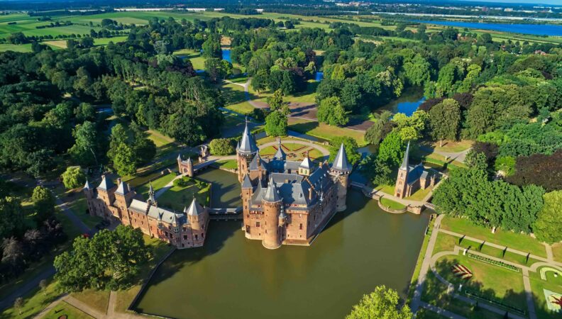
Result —
[[[184, 179], [189, 179], [189, 177], [184, 177]], [[157, 198], [158, 206], [181, 212], [186, 206], [189, 206], [194, 197], [202, 205], [208, 206], [210, 189], [211, 184], [206, 184], [203, 181], [199, 181], [198, 184], [197, 180], [190, 179], [188, 186], [172, 186], [171, 189], [165, 191], [162, 196]]]

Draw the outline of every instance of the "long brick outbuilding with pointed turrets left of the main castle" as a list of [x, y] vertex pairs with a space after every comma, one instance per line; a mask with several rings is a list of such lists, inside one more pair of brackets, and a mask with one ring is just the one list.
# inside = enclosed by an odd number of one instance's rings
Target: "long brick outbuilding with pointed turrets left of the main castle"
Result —
[[183, 212], [170, 211], [158, 207], [152, 184], [148, 201], [144, 201], [138, 198], [126, 182], [118, 179], [115, 185], [105, 176], [102, 176], [101, 183], [95, 189], [86, 181], [84, 194], [92, 216], [105, 220], [116, 218], [123, 225], [140, 228], [146, 235], [159, 238], [179, 249], [201, 247], [204, 244], [209, 212], [195, 198]]

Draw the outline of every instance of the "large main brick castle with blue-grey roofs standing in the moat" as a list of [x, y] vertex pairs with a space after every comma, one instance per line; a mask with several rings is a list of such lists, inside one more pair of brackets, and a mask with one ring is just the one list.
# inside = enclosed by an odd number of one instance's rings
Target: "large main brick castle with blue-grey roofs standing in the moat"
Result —
[[346, 209], [352, 167], [343, 145], [331, 167], [315, 167], [308, 155], [302, 162], [286, 157], [280, 141], [272, 159], [261, 158], [246, 125], [236, 147], [243, 231], [269, 249], [310, 245], [336, 211]]

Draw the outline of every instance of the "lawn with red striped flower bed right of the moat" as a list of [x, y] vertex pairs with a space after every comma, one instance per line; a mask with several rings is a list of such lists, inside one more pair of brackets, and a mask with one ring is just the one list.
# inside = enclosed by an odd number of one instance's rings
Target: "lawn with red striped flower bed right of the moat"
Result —
[[[451, 271], [454, 264], [468, 267], [473, 277], [466, 280], [455, 276]], [[441, 257], [436, 262], [436, 269], [456, 288], [462, 284], [463, 288], [478, 293], [479, 296], [527, 310], [521, 272], [514, 272], [463, 255]]]

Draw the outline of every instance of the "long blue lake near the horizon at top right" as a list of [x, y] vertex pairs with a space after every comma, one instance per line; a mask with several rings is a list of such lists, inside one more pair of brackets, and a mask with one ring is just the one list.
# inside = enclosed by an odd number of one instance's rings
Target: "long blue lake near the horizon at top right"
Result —
[[562, 26], [550, 24], [523, 24], [523, 23], [479, 23], [461, 21], [417, 21], [438, 24], [441, 26], [454, 26], [459, 28], [475, 28], [480, 30], [495, 30], [502, 32], [532, 34], [532, 35], [562, 35]]

